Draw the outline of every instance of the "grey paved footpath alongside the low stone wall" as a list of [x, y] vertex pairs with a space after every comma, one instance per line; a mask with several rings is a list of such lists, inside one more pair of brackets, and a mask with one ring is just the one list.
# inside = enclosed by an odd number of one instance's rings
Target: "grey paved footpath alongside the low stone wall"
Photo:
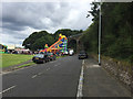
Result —
[[125, 97], [131, 99], [131, 92], [113, 78], [93, 58], [84, 61], [83, 97]]

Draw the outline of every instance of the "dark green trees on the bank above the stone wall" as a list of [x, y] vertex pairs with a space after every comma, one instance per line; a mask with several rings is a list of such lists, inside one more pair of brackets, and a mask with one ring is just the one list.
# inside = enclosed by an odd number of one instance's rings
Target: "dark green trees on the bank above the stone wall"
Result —
[[[92, 3], [93, 23], [81, 41], [85, 51], [98, 54], [99, 3]], [[133, 64], [133, 2], [104, 2], [102, 4], [101, 55]]]

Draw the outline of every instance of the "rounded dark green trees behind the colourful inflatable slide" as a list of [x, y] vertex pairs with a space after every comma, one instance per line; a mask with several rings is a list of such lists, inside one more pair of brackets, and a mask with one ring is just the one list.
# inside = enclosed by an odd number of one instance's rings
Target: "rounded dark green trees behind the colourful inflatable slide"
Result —
[[[55, 33], [53, 34], [47, 31], [33, 32], [23, 41], [22, 46], [31, 51], [44, 50], [45, 44], [51, 46], [53, 43], [58, 41], [60, 33], [69, 37], [70, 35], [75, 35], [82, 32], [83, 32], [82, 30], [70, 29], [61, 29], [55, 31]], [[74, 46], [73, 48], [75, 48], [75, 43], [74, 42], [71, 43], [72, 44], [70, 44], [69, 47], [71, 48]]]

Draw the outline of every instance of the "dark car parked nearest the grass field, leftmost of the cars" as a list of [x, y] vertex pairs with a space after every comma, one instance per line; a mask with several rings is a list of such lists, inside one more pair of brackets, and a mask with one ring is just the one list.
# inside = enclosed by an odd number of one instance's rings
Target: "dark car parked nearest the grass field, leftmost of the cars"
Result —
[[48, 55], [47, 54], [37, 54], [35, 56], [32, 57], [32, 61], [34, 63], [47, 63], [49, 62]]

